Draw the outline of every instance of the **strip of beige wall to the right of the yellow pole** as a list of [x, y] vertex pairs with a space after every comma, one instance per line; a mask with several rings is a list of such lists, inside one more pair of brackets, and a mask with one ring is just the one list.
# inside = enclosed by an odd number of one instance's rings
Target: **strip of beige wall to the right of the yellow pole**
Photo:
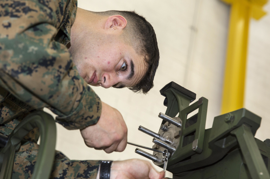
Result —
[[251, 20], [245, 86], [245, 108], [262, 117], [255, 137], [270, 138], [270, 3], [264, 9], [268, 15]]

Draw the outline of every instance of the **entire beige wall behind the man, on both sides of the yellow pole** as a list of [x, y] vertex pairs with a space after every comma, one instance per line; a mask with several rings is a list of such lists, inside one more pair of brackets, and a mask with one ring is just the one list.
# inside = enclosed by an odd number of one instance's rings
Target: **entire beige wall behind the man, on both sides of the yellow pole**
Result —
[[[93, 88], [102, 101], [118, 109], [128, 127], [128, 141], [151, 147], [152, 137], [138, 131], [142, 125], [158, 131], [165, 112], [164, 97], [159, 90], [170, 81], [195, 92], [197, 99], [209, 100], [206, 128], [212, 127], [220, 114], [221, 91], [226, 56], [230, 8], [219, 0], [78, 0], [78, 7], [92, 11], [135, 10], [153, 25], [160, 49], [160, 65], [154, 88], [148, 95], [128, 89]], [[270, 10], [270, 6], [266, 7]], [[251, 22], [247, 67], [246, 107], [263, 117], [257, 137], [270, 138], [268, 100], [270, 99], [270, 16]], [[124, 152], [107, 154], [85, 146], [79, 130], [68, 131], [57, 124], [56, 149], [70, 159], [125, 160], [145, 159], [134, 153], [135, 146]], [[150, 151], [147, 151], [150, 152]], [[151, 153], [151, 152], [150, 152]], [[157, 167], [158, 170], [161, 168]], [[167, 172], [167, 176], [171, 174]]]

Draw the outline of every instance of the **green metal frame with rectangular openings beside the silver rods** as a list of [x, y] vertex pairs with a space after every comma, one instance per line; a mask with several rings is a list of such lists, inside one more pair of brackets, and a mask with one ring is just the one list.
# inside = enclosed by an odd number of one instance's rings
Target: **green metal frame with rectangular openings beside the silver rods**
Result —
[[[205, 121], [207, 114], [208, 99], [202, 97], [197, 102], [189, 106], [191, 100], [194, 100], [190, 96], [183, 94], [182, 92], [169, 88], [163, 95], [167, 98], [167, 110], [166, 115], [170, 117], [175, 117], [179, 112], [178, 117], [182, 120], [181, 127], [181, 137], [179, 138], [179, 146], [177, 147], [174, 155], [168, 160], [168, 167], [183, 160], [195, 153], [201, 153], [204, 143], [204, 131], [205, 131]], [[192, 118], [187, 119], [187, 115], [194, 110], [199, 109], [197, 122], [187, 128], [185, 128], [187, 121]], [[163, 121], [164, 124], [166, 121]], [[195, 132], [195, 137], [192, 139], [190, 144], [183, 146], [185, 136]], [[197, 148], [194, 150], [192, 148], [193, 142], [197, 142]]]

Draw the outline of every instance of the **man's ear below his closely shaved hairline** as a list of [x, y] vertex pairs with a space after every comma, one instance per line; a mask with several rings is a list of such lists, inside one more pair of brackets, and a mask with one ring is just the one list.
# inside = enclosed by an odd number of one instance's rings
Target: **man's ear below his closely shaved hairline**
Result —
[[123, 30], [127, 26], [127, 20], [123, 16], [113, 15], [108, 17], [104, 24], [106, 30]]

